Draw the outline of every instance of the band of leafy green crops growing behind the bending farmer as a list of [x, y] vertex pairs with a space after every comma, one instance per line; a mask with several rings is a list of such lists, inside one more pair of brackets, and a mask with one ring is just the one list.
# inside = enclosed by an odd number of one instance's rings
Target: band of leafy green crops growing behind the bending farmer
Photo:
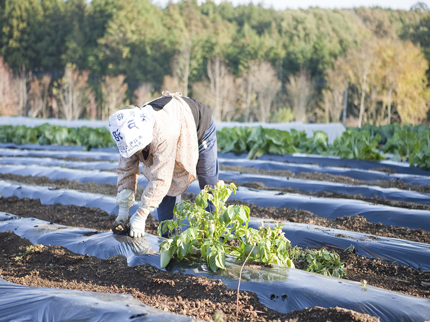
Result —
[[[411, 166], [430, 169], [430, 129], [427, 126], [371, 126], [348, 128], [333, 145], [325, 132], [290, 132], [259, 127], [233, 127], [217, 131], [218, 148], [222, 152], [247, 153], [253, 159], [263, 154], [307, 153], [333, 155], [347, 159], [383, 160], [384, 153], [392, 160], [408, 161]], [[83, 150], [115, 147], [107, 128], [68, 128], [48, 123], [33, 128], [0, 126], [0, 142], [40, 145], [74, 145]]]

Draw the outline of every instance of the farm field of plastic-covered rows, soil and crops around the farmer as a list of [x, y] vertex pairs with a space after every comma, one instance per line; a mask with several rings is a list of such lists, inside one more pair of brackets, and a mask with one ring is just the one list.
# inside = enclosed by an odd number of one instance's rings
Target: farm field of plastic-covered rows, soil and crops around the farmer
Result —
[[[23, 129], [18, 142], [13, 130], [0, 137], [2, 321], [34, 312], [53, 321], [430, 320], [430, 170], [426, 139], [417, 148], [416, 137], [426, 137], [420, 129], [393, 129], [385, 139], [368, 130], [367, 141], [348, 131], [333, 146], [321, 133], [300, 141], [299, 132], [281, 138], [266, 130], [282, 139], [268, 146], [257, 140], [262, 129], [245, 134], [255, 141], [230, 133], [220, 144], [220, 179], [238, 189], [226, 205], [248, 206], [252, 228], [282, 223], [291, 245], [308, 251], [295, 268], [249, 260], [242, 273], [243, 261], [228, 256], [216, 271], [191, 255], [162, 268], [156, 211], [142, 238], [110, 232], [118, 153], [108, 137], [97, 145], [88, 129], [45, 129], [28, 142], [36, 134]], [[69, 145], [52, 143], [61, 135]], [[367, 157], [349, 157], [348, 145]], [[182, 199], [199, 192], [192, 183]], [[38, 300], [29, 302], [31, 294]]]

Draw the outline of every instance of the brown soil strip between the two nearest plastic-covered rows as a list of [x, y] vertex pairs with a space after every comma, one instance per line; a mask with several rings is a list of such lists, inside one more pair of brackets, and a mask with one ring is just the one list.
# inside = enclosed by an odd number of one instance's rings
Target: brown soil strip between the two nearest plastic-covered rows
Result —
[[[60, 246], [27, 251], [31, 243], [12, 232], [0, 233], [0, 277], [16, 284], [93, 292], [131, 294], [160, 310], [217, 321], [359, 321], [379, 318], [343, 308], [313, 307], [281, 314], [260, 304], [255, 293], [235, 290], [221, 280], [168, 273], [149, 265], [129, 267], [124, 256], [101, 260]], [[25, 256], [22, 256], [25, 253]]]

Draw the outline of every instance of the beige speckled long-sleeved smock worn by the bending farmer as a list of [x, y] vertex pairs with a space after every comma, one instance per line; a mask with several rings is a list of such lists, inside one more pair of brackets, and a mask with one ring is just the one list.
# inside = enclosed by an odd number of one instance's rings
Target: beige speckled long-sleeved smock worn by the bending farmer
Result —
[[196, 123], [180, 95], [169, 96], [173, 99], [163, 109], [154, 111], [153, 141], [149, 144], [147, 159], [138, 152], [130, 158], [120, 155], [118, 160], [118, 193], [130, 189], [136, 194], [141, 163], [142, 173], [149, 181], [141, 201], [151, 209], [156, 208], [166, 195], [181, 195], [197, 178], [199, 147]]

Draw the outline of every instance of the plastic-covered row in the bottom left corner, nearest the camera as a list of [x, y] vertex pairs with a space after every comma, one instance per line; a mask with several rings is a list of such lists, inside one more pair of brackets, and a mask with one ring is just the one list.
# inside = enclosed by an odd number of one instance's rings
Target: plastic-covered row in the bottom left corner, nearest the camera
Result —
[[193, 321], [131, 295], [29, 287], [0, 278], [0, 321]]

